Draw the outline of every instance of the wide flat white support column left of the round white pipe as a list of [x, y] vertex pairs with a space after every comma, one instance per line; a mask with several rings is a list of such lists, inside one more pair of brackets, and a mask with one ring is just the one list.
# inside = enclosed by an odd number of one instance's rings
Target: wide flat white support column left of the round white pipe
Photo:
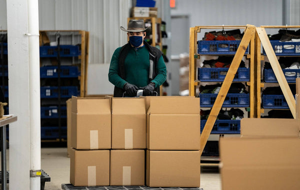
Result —
[[[27, 0], [7, 0], [9, 189], [29, 190], [29, 64]], [[38, 100], [39, 101], [39, 100]]]

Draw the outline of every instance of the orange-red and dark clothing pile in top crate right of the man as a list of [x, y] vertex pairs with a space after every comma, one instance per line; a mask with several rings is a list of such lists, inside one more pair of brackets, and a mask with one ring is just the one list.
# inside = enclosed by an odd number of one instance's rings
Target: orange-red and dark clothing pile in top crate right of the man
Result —
[[242, 34], [239, 29], [233, 29], [228, 31], [210, 31], [205, 32], [202, 40], [212, 41], [212, 40], [241, 40]]

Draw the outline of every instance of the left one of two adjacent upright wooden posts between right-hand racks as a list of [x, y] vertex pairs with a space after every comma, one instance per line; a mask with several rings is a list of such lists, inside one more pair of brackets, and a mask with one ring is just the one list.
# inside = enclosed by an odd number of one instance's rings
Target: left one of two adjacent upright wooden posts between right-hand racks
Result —
[[254, 105], [254, 91], [255, 91], [255, 66], [254, 66], [254, 52], [255, 52], [255, 41], [254, 41], [255, 35], [253, 34], [250, 40], [250, 60], [249, 60], [249, 67], [250, 67], [250, 114], [249, 117], [253, 118], [254, 114], [256, 113], [255, 105]]

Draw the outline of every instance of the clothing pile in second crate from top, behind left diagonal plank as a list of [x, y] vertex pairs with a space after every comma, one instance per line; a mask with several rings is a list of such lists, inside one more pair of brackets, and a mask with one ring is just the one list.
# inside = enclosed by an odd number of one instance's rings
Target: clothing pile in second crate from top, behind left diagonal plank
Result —
[[[229, 68], [234, 56], [219, 56], [217, 59], [204, 60], [204, 68]], [[245, 67], [245, 62], [240, 61], [239, 67]]]

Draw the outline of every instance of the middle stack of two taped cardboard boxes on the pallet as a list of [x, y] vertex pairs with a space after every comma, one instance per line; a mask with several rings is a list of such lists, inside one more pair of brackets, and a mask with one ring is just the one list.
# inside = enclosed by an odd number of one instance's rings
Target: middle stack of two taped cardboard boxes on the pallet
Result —
[[144, 186], [145, 148], [145, 99], [111, 98], [111, 186]]

